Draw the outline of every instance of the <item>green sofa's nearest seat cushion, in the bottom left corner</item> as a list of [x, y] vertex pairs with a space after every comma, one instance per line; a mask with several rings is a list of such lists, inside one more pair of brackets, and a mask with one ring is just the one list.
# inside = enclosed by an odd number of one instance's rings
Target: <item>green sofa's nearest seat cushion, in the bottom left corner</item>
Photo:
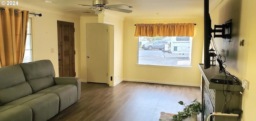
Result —
[[1, 106], [0, 121], [32, 121], [32, 110], [23, 105]]

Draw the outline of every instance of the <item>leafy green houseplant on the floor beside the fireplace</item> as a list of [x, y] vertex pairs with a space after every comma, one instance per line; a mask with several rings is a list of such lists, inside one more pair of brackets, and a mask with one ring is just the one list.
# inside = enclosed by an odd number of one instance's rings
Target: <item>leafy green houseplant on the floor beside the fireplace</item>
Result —
[[184, 105], [184, 109], [183, 111], [178, 111], [178, 115], [174, 115], [172, 121], [182, 121], [182, 119], [202, 113], [202, 103], [198, 102], [196, 99], [192, 101], [190, 105], [186, 105], [183, 101], [179, 101], [178, 103]]

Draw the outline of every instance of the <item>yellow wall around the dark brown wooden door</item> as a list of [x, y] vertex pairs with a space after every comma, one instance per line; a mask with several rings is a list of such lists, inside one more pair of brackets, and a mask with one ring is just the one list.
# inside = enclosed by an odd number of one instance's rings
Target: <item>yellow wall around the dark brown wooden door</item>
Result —
[[[20, 5], [19, 5], [20, 6]], [[10, 7], [10, 6], [6, 6]], [[57, 21], [65, 21], [74, 23], [76, 28], [75, 32], [75, 71], [80, 70], [80, 16], [67, 15], [65, 13], [49, 13], [47, 10], [32, 10], [29, 6], [14, 7], [19, 10], [28, 10], [30, 13], [42, 13], [42, 16], [32, 17], [32, 45], [33, 45], [33, 61], [37, 60], [51, 60], [56, 77], [59, 75], [58, 70], [58, 33], [57, 33]], [[54, 53], [51, 53], [51, 48], [54, 49]], [[76, 77], [79, 77], [79, 73], [76, 73]]]

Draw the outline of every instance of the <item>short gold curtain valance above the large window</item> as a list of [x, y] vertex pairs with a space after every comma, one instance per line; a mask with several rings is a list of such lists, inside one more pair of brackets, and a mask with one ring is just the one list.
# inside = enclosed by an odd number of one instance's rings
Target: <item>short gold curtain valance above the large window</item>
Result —
[[136, 24], [134, 36], [194, 36], [194, 23]]

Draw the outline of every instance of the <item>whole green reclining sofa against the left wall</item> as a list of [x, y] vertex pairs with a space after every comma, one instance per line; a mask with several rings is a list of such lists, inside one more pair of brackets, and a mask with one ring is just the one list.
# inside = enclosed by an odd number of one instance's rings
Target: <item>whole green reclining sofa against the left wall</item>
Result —
[[80, 99], [81, 81], [55, 77], [50, 60], [0, 68], [0, 121], [47, 121]]

